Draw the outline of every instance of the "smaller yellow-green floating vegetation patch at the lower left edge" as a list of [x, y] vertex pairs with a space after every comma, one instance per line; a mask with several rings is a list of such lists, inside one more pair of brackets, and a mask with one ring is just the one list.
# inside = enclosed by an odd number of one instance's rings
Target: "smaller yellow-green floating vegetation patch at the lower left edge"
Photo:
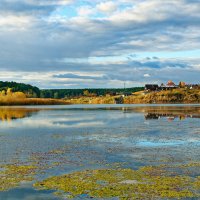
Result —
[[6, 191], [19, 186], [22, 182], [32, 181], [35, 175], [35, 166], [7, 165], [0, 170], [0, 191]]

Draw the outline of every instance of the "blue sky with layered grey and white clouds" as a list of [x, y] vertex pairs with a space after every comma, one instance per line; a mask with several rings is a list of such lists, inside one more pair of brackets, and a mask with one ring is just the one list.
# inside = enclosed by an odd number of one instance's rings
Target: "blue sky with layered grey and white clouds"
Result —
[[200, 83], [200, 0], [0, 0], [0, 80]]

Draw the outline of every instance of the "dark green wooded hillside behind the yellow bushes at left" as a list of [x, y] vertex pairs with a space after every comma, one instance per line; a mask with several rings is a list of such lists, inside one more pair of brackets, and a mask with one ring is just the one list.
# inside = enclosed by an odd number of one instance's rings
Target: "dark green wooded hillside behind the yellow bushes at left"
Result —
[[27, 97], [40, 97], [40, 89], [29, 84], [0, 81], [0, 91], [11, 88], [13, 92], [23, 92]]

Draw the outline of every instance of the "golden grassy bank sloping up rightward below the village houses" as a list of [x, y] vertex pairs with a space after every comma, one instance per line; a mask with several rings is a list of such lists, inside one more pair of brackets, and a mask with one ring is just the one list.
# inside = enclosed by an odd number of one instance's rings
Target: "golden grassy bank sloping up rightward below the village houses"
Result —
[[[121, 99], [120, 99], [121, 98]], [[80, 97], [67, 100], [70, 104], [151, 104], [200, 103], [200, 89], [173, 89], [156, 92], [136, 92], [130, 96]]]

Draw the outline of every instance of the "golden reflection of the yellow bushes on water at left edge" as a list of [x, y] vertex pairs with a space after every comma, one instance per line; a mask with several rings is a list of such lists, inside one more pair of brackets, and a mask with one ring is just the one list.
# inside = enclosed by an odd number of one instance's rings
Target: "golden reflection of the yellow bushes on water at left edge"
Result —
[[0, 108], [0, 121], [10, 122], [32, 116], [39, 110], [34, 108]]

